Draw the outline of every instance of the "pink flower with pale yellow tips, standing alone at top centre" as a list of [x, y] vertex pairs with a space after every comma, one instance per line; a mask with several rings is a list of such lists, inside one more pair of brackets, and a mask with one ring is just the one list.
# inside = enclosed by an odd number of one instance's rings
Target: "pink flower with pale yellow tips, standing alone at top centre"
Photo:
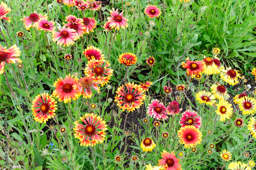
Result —
[[111, 28], [115, 28], [117, 30], [120, 29], [120, 27], [122, 29], [124, 29], [124, 27], [128, 27], [128, 23], [127, 21], [129, 21], [129, 19], [123, 17], [123, 12], [121, 12], [120, 14], [118, 14], [118, 9], [113, 8], [113, 11], [110, 10], [110, 15], [111, 17], [108, 17], [108, 20], [111, 22], [110, 23], [110, 27]]

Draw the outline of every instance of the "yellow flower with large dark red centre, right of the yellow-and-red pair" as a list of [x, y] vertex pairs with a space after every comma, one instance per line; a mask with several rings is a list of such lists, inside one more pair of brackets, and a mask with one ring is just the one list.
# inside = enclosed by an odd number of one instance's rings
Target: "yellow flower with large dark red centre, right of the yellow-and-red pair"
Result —
[[241, 79], [238, 71], [236, 69], [231, 69], [231, 67], [228, 67], [227, 69], [222, 69], [220, 76], [223, 81], [232, 86], [239, 83], [238, 78]]

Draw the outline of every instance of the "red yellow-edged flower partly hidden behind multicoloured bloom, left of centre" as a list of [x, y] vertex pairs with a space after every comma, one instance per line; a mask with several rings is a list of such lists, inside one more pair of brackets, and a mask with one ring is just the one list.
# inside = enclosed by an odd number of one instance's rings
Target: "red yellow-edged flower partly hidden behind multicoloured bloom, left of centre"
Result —
[[102, 54], [102, 51], [99, 50], [99, 48], [94, 47], [92, 45], [88, 46], [86, 50], [84, 50], [83, 55], [86, 56], [86, 58], [90, 61], [92, 59], [95, 60], [102, 60], [104, 59], [104, 55]]

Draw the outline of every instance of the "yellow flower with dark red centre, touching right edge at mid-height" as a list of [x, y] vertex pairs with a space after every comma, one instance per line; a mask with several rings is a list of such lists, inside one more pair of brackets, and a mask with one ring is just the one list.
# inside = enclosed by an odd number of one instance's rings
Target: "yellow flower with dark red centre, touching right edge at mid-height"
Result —
[[256, 100], [254, 98], [244, 96], [238, 104], [243, 114], [254, 114], [256, 112]]

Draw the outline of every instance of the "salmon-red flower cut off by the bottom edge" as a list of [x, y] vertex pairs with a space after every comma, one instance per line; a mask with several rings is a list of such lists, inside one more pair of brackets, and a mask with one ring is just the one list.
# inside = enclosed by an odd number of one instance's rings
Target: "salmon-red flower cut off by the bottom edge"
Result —
[[165, 170], [182, 170], [181, 164], [179, 163], [180, 159], [176, 158], [175, 153], [168, 153], [163, 150], [162, 158], [158, 160], [158, 165], [162, 166]]

